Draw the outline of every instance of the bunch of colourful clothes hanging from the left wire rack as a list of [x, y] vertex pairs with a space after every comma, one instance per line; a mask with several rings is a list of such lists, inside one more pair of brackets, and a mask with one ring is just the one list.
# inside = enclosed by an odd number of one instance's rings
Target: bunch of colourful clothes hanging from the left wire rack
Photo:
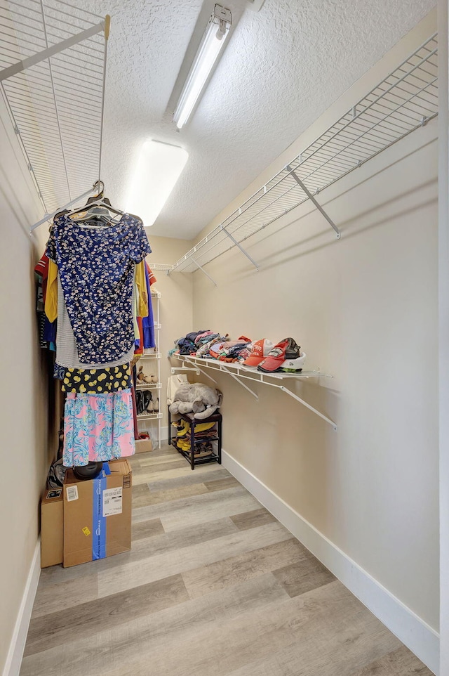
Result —
[[67, 393], [66, 467], [135, 453], [133, 309], [138, 306], [143, 335], [142, 318], [153, 321], [149, 253], [135, 216], [93, 226], [59, 214], [36, 266], [42, 335], [54, 339], [58, 322], [54, 375]]

